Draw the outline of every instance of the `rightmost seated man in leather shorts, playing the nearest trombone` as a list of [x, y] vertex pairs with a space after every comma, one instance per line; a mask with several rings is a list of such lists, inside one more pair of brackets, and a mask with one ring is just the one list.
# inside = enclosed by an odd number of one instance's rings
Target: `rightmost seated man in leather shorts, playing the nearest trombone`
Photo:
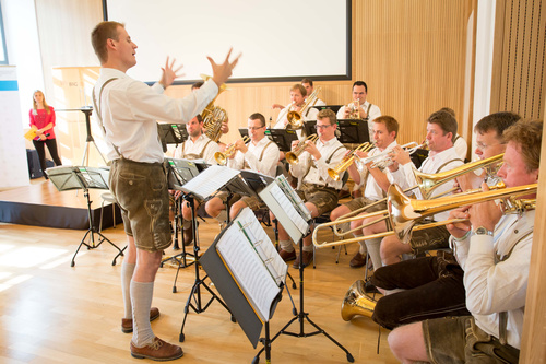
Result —
[[[537, 183], [542, 129], [542, 121], [521, 120], [505, 131], [505, 164], [497, 175], [507, 187]], [[450, 219], [470, 219], [448, 228], [471, 315], [401, 326], [389, 334], [389, 345], [404, 363], [518, 363], [535, 212], [503, 214], [488, 201], [455, 209]]]

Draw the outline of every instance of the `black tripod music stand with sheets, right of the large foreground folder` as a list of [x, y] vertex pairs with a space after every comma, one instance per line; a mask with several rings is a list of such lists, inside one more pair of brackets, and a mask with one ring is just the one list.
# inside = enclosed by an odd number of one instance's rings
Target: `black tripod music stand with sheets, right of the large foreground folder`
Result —
[[[277, 177], [280, 178], [280, 177]], [[280, 186], [281, 187], [281, 186]], [[296, 207], [297, 204], [302, 206], [302, 201], [297, 198], [296, 192], [287, 183], [284, 183], [285, 188], [289, 188], [292, 190], [292, 202]], [[282, 188], [283, 189], [283, 188]], [[275, 218], [278, 220], [278, 222], [285, 227], [286, 233], [290, 237], [290, 239], [299, 245], [299, 256], [302, 257], [304, 255], [304, 236], [307, 236], [307, 234], [310, 233], [309, 231], [309, 222], [311, 221], [311, 215], [307, 211], [307, 213], [299, 213], [299, 215], [305, 219], [305, 222], [307, 223], [307, 232], [304, 234], [302, 228], [298, 227], [296, 223], [288, 216], [288, 214], [285, 212], [285, 210], [282, 208], [282, 206], [278, 203], [278, 201], [271, 196], [271, 187], [268, 187], [260, 193], [262, 200], [268, 204], [270, 210], [275, 214]], [[288, 197], [288, 195], [287, 195]], [[307, 209], [305, 209], [307, 210]], [[304, 309], [304, 266], [302, 266], [302, 259], [299, 260], [299, 312], [294, 308], [294, 317], [286, 324], [272, 339], [270, 339], [270, 331], [269, 331], [269, 325], [265, 322], [265, 338], [260, 339], [260, 341], [263, 343], [263, 348], [258, 352], [258, 354], [254, 356], [252, 360], [252, 364], [258, 364], [260, 362], [260, 354], [265, 351], [265, 359], [266, 362], [271, 362], [271, 344], [273, 341], [275, 341], [276, 338], [278, 338], [281, 334], [288, 334], [292, 337], [296, 338], [308, 338], [312, 337], [319, 333], [324, 334], [330, 341], [332, 341], [334, 344], [336, 344], [340, 349], [342, 349], [346, 356], [347, 361], [349, 363], [354, 363], [355, 359], [353, 355], [348, 352], [347, 349], [345, 349], [341, 343], [339, 343], [334, 338], [332, 338], [327, 331], [324, 331], [322, 328], [320, 328], [317, 324], [314, 324], [310, 318], [309, 318], [309, 313], [306, 313]], [[286, 331], [286, 329], [295, 321], [299, 321], [299, 332], [290, 332]], [[311, 326], [313, 326], [317, 331], [306, 333], [305, 328], [304, 328], [304, 320], [307, 320]]]

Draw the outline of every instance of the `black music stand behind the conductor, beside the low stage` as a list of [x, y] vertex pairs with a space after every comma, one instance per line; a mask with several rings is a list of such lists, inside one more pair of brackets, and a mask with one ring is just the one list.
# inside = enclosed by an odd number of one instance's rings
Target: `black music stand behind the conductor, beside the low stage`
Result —
[[[103, 233], [98, 232], [95, 225], [93, 224], [93, 214], [91, 213], [91, 201], [90, 199], [90, 189], [108, 189], [108, 184], [106, 180], [108, 180], [108, 169], [102, 169], [102, 168], [90, 168], [90, 167], [84, 167], [84, 166], [75, 166], [75, 167], [52, 167], [52, 168], [47, 168], [46, 174], [48, 175], [49, 179], [51, 183], [57, 187], [59, 191], [68, 191], [72, 189], [83, 189], [83, 195], [87, 199], [87, 219], [90, 222], [90, 228], [87, 228], [87, 232], [85, 232], [85, 235], [82, 238], [82, 242], [78, 246], [78, 249], [74, 253], [74, 256], [72, 257], [72, 261], [70, 263], [70, 267], [75, 266], [75, 256], [80, 251], [80, 248], [82, 245], [85, 245], [87, 249], [95, 249], [100, 246], [105, 240], [110, 243], [111, 246], [114, 246], [116, 249], [118, 249], [118, 254], [111, 261], [112, 266], [116, 266], [116, 259], [119, 256], [123, 255], [123, 249], [120, 249], [116, 244], [110, 242], [106, 236], [103, 235]], [[95, 234], [97, 234], [100, 239], [98, 244], [95, 243]], [[90, 243], [85, 243], [85, 239], [87, 238], [87, 235], [90, 236]]]

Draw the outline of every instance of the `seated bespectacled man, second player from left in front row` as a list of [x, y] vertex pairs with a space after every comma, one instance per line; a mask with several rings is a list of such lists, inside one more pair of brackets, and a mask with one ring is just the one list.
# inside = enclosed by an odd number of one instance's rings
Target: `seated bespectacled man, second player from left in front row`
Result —
[[[227, 161], [227, 166], [235, 169], [250, 169], [261, 174], [275, 177], [276, 163], [278, 161], [278, 146], [265, 137], [265, 118], [263, 115], [256, 113], [248, 118], [248, 134], [250, 142], [245, 144], [242, 140], [235, 142], [234, 153]], [[206, 212], [213, 216], [218, 218], [222, 211], [226, 210], [226, 201], [228, 198], [227, 192], [221, 192], [218, 196], [213, 197], [205, 204]], [[229, 216], [233, 220], [239, 210], [249, 207], [257, 210], [262, 206], [260, 199], [256, 197], [234, 196], [230, 201]], [[218, 218], [224, 221], [225, 219]]]

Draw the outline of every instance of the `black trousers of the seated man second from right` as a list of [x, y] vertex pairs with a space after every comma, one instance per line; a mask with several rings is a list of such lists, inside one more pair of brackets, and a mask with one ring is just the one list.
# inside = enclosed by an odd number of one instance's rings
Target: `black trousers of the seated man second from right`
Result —
[[450, 254], [404, 260], [375, 271], [371, 283], [406, 291], [381, 297], [372, 319], [394, 329], [429, 318], [471, 315], [465, 305], [463, 270]]

